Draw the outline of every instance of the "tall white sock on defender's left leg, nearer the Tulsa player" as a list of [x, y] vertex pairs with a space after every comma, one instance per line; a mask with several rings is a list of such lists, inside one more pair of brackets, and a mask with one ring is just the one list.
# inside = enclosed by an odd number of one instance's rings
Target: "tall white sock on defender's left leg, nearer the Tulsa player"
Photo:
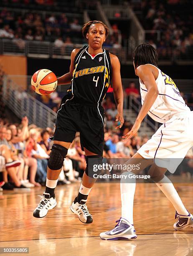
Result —
[[[128, 175], [128, 172], [124, 174]], [[135, 178], [127, 180], [121, 179], [121, 217], [128, 220], [131, 224], [133, 224], [133, 200], [135, 195], [135, 187]]]

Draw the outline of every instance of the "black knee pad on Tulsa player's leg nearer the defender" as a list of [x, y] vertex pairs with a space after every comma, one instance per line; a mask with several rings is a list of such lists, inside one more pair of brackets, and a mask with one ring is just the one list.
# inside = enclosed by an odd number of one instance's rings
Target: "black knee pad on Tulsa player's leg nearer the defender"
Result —
[[98, 168], [102, 166], [103, 157], [100, 155], [94, 156], [86, 156], [86, 169], [85, 173], [87, 176], [93, 178], [94, 174], [100, 174], [102, 168]]

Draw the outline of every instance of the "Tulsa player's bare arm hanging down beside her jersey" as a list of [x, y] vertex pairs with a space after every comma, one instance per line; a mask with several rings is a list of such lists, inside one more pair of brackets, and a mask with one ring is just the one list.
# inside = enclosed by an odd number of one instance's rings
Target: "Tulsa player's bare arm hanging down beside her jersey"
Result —
[[114, 100], [117, 105], [117, 115], [116, 121], [120, 121], [120, 125], [116, 127], [116, 129], [121, 128], [124, 123], [123, 118], [123, 89], [121, 82], [121, 74], [120, 74], [120, 62], [117, 56], [110, 54], [111, 64], [112, 64], [112, 84], [113, 84], [113, 93]]

